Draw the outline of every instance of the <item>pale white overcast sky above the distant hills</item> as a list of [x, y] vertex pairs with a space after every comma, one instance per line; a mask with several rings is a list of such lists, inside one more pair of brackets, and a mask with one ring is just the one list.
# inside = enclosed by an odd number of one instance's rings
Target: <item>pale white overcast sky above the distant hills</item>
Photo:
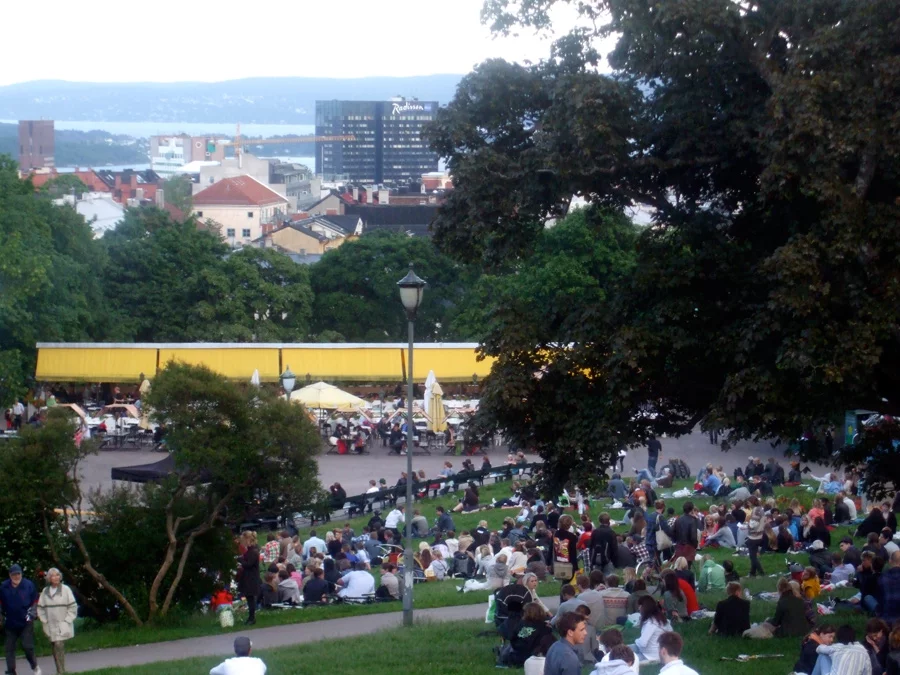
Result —
[[[4, 31], [4, 52], [17, 57], [4, 59], [0, 85], [463, 74], [487, 58], [549, 55], [546, 35], [492, 37], [482, 1], [16, 2], [7, 25], [25, 28]], [[566, 7], [555, 19], [562, 34], [575, 17]]]

